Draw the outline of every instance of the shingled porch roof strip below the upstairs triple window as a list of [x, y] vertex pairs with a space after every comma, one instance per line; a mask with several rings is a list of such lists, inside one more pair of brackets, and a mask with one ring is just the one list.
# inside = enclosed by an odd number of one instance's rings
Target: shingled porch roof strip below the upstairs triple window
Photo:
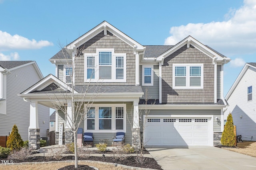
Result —
[[[79, 93], [86, 91], [86, 86], [75, 86]], [[88, 93], [142, 93], [141, 86], [89, 86]]]

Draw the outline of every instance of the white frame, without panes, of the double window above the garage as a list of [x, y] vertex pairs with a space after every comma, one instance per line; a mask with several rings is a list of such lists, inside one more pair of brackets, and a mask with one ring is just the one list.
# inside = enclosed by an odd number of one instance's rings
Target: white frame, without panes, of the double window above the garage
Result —
[[[186, 86], [175, 86], [175, 67], [186, 66]], [[201, 86], [190, 86], [190, 66], [201, 67]], [[203, 89], [204, 88], [204, 64], [172, 64], [172, 88], [173, 89]]]

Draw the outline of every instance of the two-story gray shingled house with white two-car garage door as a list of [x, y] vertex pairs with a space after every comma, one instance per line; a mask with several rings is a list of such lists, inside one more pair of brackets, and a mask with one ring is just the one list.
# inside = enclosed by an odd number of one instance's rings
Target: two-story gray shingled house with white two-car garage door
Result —
[[[77, 51], [82, 53], [76, 55]], [[63, 64], [65, 56], [69, 61], [76, 60], [76, 65]], [[71, 82], [69, 72], [74, 69], [77, 94], [83, 94], [82, 88], [89, 82], [90, 87], [102, 82], [89, 110], [94, 114], [80, 125], [93, 133], [94, 143], [109, 139], [111, 145], [116, 132], [125, 132], [125, 143], [134, 145], [138, 131], [142, 131], [138, 125], [145, 120], [146, 145], [213, 146], [220, 142], [224, 129], [223, 108], [227, 103], [223, 97], [223, 66], [229, 61], [191, 36], [176, 45], [141, 45], [103, 21], [50, 59], [56, 65], [56, 76], [46, 76], [20, 96], [31, 101], [31, 114], [36, 111], [36, 101], [54, 108], [45, 96], [71, 90], [66, 83]], [[53, 89], [53, 85], [58, 88]], [[154, 104], [145, 105], [146, 90], [148, 103]], [[68, 115], [70, 103], [63, 103]], [[140, 116], [146, 107], [150, 109], [148, 117]], [[59, 110], [56, 117], [58, 139], [59, 124], [68, 118]], [[31, 118], [36, 122], [36, 117]], [[69, 143], [67, 124], [64, 131]]]

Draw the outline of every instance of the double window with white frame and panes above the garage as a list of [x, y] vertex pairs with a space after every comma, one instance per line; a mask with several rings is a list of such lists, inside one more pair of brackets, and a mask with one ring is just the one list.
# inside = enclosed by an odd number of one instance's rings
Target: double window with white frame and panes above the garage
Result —
[[174, 89], [204, 88], [203, 64], [173, 64]]

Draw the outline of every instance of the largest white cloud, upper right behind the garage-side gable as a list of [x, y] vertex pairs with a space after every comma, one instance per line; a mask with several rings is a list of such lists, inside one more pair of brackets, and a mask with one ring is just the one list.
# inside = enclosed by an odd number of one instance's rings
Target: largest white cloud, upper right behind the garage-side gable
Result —
[[171, 27], [171, 36], [164, 44], [175, 45], [191, 35], [224, 55], [255, 53], [256, 1], [244, 0], [242, 7], [231, 9], [224, 18], [226, 21], [222, 22], [188, 23]]

